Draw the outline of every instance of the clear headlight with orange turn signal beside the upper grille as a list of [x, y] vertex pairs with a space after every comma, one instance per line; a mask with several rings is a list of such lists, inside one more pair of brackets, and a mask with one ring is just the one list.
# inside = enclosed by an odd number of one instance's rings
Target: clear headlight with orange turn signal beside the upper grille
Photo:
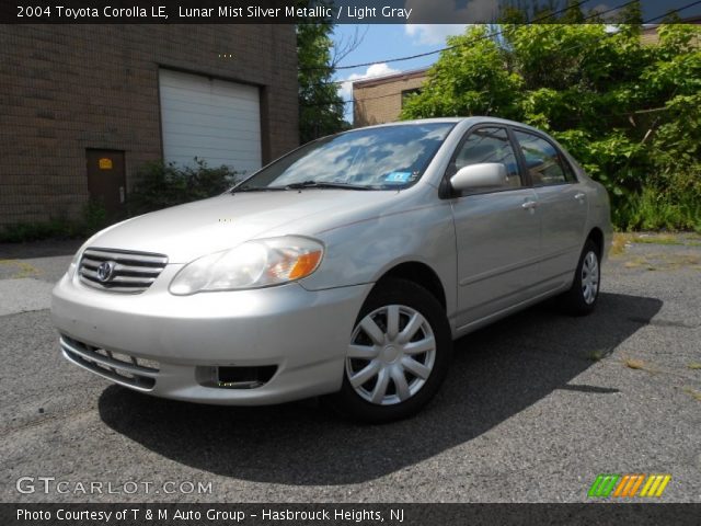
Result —
[[298, 236], [248, 241], [187, 263], [171, 282], [170, 291], [185, 296], [280, 285], [310, 275], [323, 253], [321, 242]]

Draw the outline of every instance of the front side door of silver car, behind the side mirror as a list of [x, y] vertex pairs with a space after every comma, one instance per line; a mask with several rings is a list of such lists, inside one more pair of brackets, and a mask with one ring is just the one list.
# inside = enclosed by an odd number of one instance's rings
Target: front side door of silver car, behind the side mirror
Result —
[[452, 199], [458, 254], [458, 329], [532, 296], [538, 283], [540, 217], [506, 127], [472, 128], [446, 173], [481, 162], [507, 167], [508, 186]]

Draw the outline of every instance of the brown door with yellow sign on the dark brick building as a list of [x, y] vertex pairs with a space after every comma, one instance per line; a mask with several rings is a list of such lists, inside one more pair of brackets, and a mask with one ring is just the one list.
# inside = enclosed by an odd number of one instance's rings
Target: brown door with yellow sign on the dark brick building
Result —
[[127, 190], [124, 151], [88, 149], [85, 163], [90, 201], [104, 207], [107, 219], [118, 219], [125, 211]]

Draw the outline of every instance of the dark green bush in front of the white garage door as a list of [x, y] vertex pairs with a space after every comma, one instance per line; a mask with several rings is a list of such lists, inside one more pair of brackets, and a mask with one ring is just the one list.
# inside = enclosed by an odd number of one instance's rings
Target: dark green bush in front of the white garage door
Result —
[[127, 203], [129, 215], [212, 197], [231, 187], [239, 172], [226, 165], [209, 168], [195, 158], [195, 164], [181, 168], [162, 161], [149, 162], [136, 175]]

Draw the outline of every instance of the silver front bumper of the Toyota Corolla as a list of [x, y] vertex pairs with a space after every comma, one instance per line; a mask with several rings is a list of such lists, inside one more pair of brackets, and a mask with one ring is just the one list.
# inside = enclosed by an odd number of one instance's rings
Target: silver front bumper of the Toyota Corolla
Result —
[[[371, 284], [173, 296], [168, 285], [181, 267], [168, 265], [137, 295], [95, 290], [65, 275], [51, 299], [64, 356], [126, 387], [192, 402], [268, 404], [341, 388], [353, 324]], [[218, 367], [269, 366], [275, 374], [260, 387], [216, 381]]]

